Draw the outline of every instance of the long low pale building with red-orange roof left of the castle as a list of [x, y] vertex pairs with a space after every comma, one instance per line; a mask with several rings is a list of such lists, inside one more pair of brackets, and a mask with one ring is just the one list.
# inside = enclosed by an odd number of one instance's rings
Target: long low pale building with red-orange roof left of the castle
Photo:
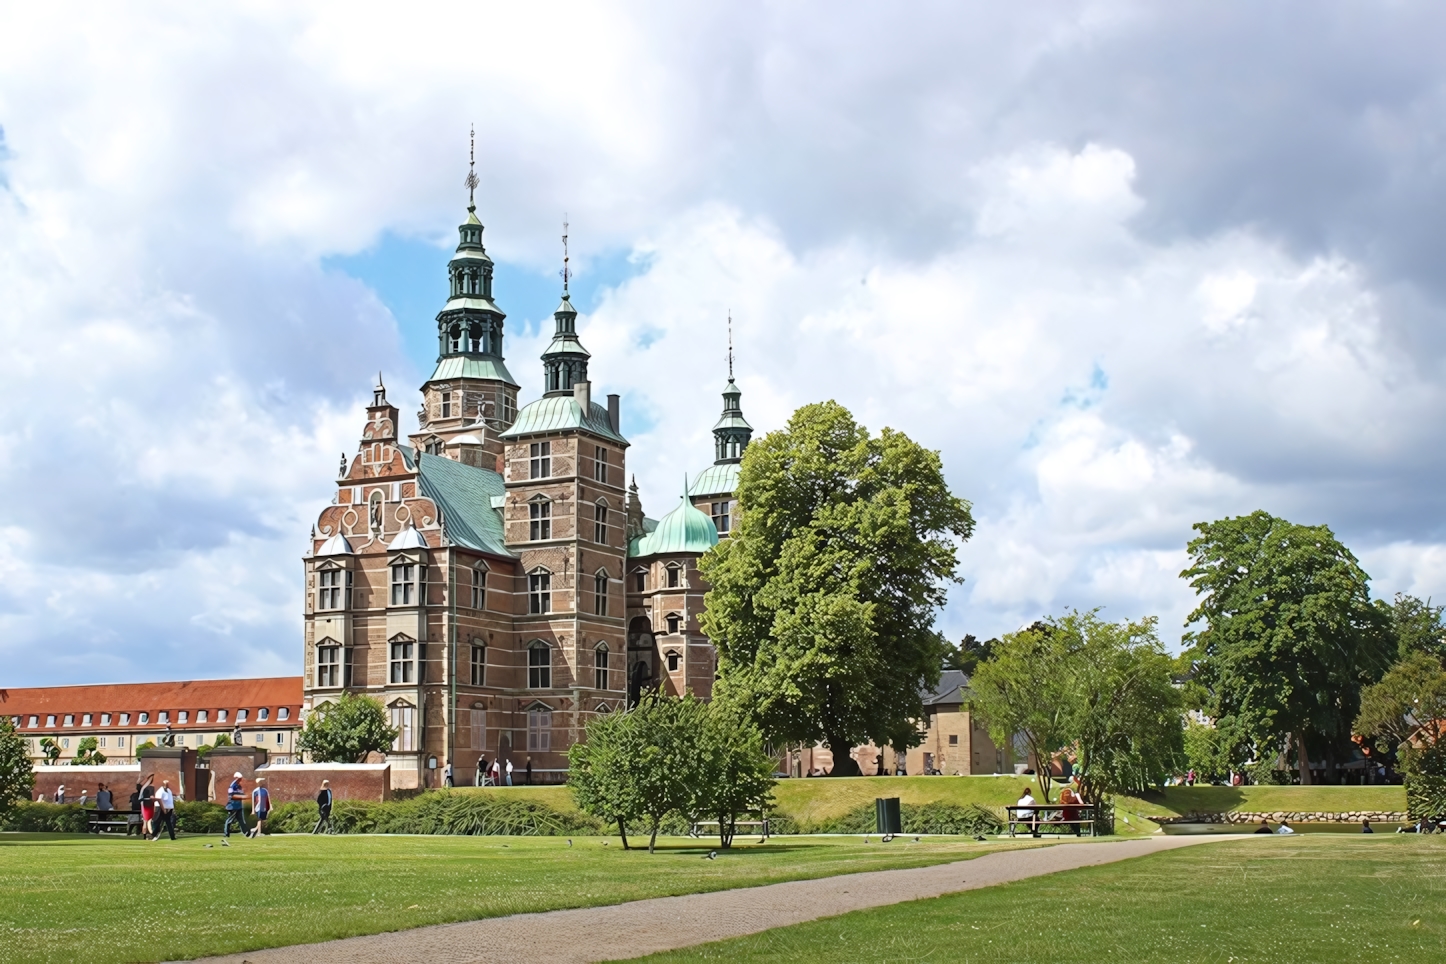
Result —
[[0, 689], [0, 715], [10, 717], [36, 763], [46, 759], [46, 737], [67, 763], [85, 737], [95, 737], [113, 760], [133, 760], [147, 740], [195, 749], [215, 746], [221, 736], [289, 763], [296, 759], [301, 689], [301, 676], [27, 687]]

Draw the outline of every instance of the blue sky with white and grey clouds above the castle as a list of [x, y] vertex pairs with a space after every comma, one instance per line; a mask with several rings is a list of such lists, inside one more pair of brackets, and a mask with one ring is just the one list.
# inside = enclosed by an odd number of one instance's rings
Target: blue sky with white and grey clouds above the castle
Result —
[[[477, 212], [523, 400], [568, 221], [658, 516], [836, 399], [941, 454], [951, 639], [1177, 646], [1192, 525], [1446, 595], [1440, 4], [0, 7], [3, 685], [294, 675], [377, 373]], [[1432, 38], [1437, 38], [1433, 40]]]

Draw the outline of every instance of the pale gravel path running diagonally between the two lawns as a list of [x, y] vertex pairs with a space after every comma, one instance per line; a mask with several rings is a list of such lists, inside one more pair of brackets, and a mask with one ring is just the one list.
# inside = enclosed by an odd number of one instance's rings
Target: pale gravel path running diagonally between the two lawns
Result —
[[[1245, 837], [1246, 840], [1249, 837]], [[518, 913], [205, 958], [226, 964], [590, 964], [756, 934], [901, 900], [1192, 847], [1238, 835], [1147, 837], [1006, 850], [912, 870], [791, 880], [606, 908]]]

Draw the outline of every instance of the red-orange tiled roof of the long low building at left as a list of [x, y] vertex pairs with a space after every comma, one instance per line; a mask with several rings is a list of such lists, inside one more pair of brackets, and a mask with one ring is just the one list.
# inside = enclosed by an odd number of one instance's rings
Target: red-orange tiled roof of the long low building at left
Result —
[[[54, 728], [64, 728], [65, 714], [75, 717], [80, 728], [82, 714], [91, 714], [90, 727], [101, 726], [100, 714], [111, 714], [110, 726], [130, 728], [153, 727], [163, 730], [161, 711], [168, 711], [174, 730], [214, 730], [217, 710], [226, 710], [226, 726], [236, 724], [237, 710], [247, 710], [246, 727], [296, 726], [301, 717], [301, 676], [270, 676], [263, 679], [188, 679], [184, 682], [126, 682], [100, 684], [91, 687], [29, 687], [23, 689], [0, 689], [0, 715], [22, 717], [20, 730], [29, 730], [29, 717], [39, 717], [36, 728], [45, 726], [45, 717], [55, 717]], [[257, 711], [268, 708], [269, 718], [257, 720]], [[279, 720], [278, 711], [286, 707], [286, 720]], [[179, 711], [188, 718], [179, 721]], [[207, 710], [207, 721], [197, 720], [197, 711]], [[121, 713], [130, 714], [130, 723], [121, 724]], [[139, 721], [139, 714], [147, 713], [150, 720]]]

